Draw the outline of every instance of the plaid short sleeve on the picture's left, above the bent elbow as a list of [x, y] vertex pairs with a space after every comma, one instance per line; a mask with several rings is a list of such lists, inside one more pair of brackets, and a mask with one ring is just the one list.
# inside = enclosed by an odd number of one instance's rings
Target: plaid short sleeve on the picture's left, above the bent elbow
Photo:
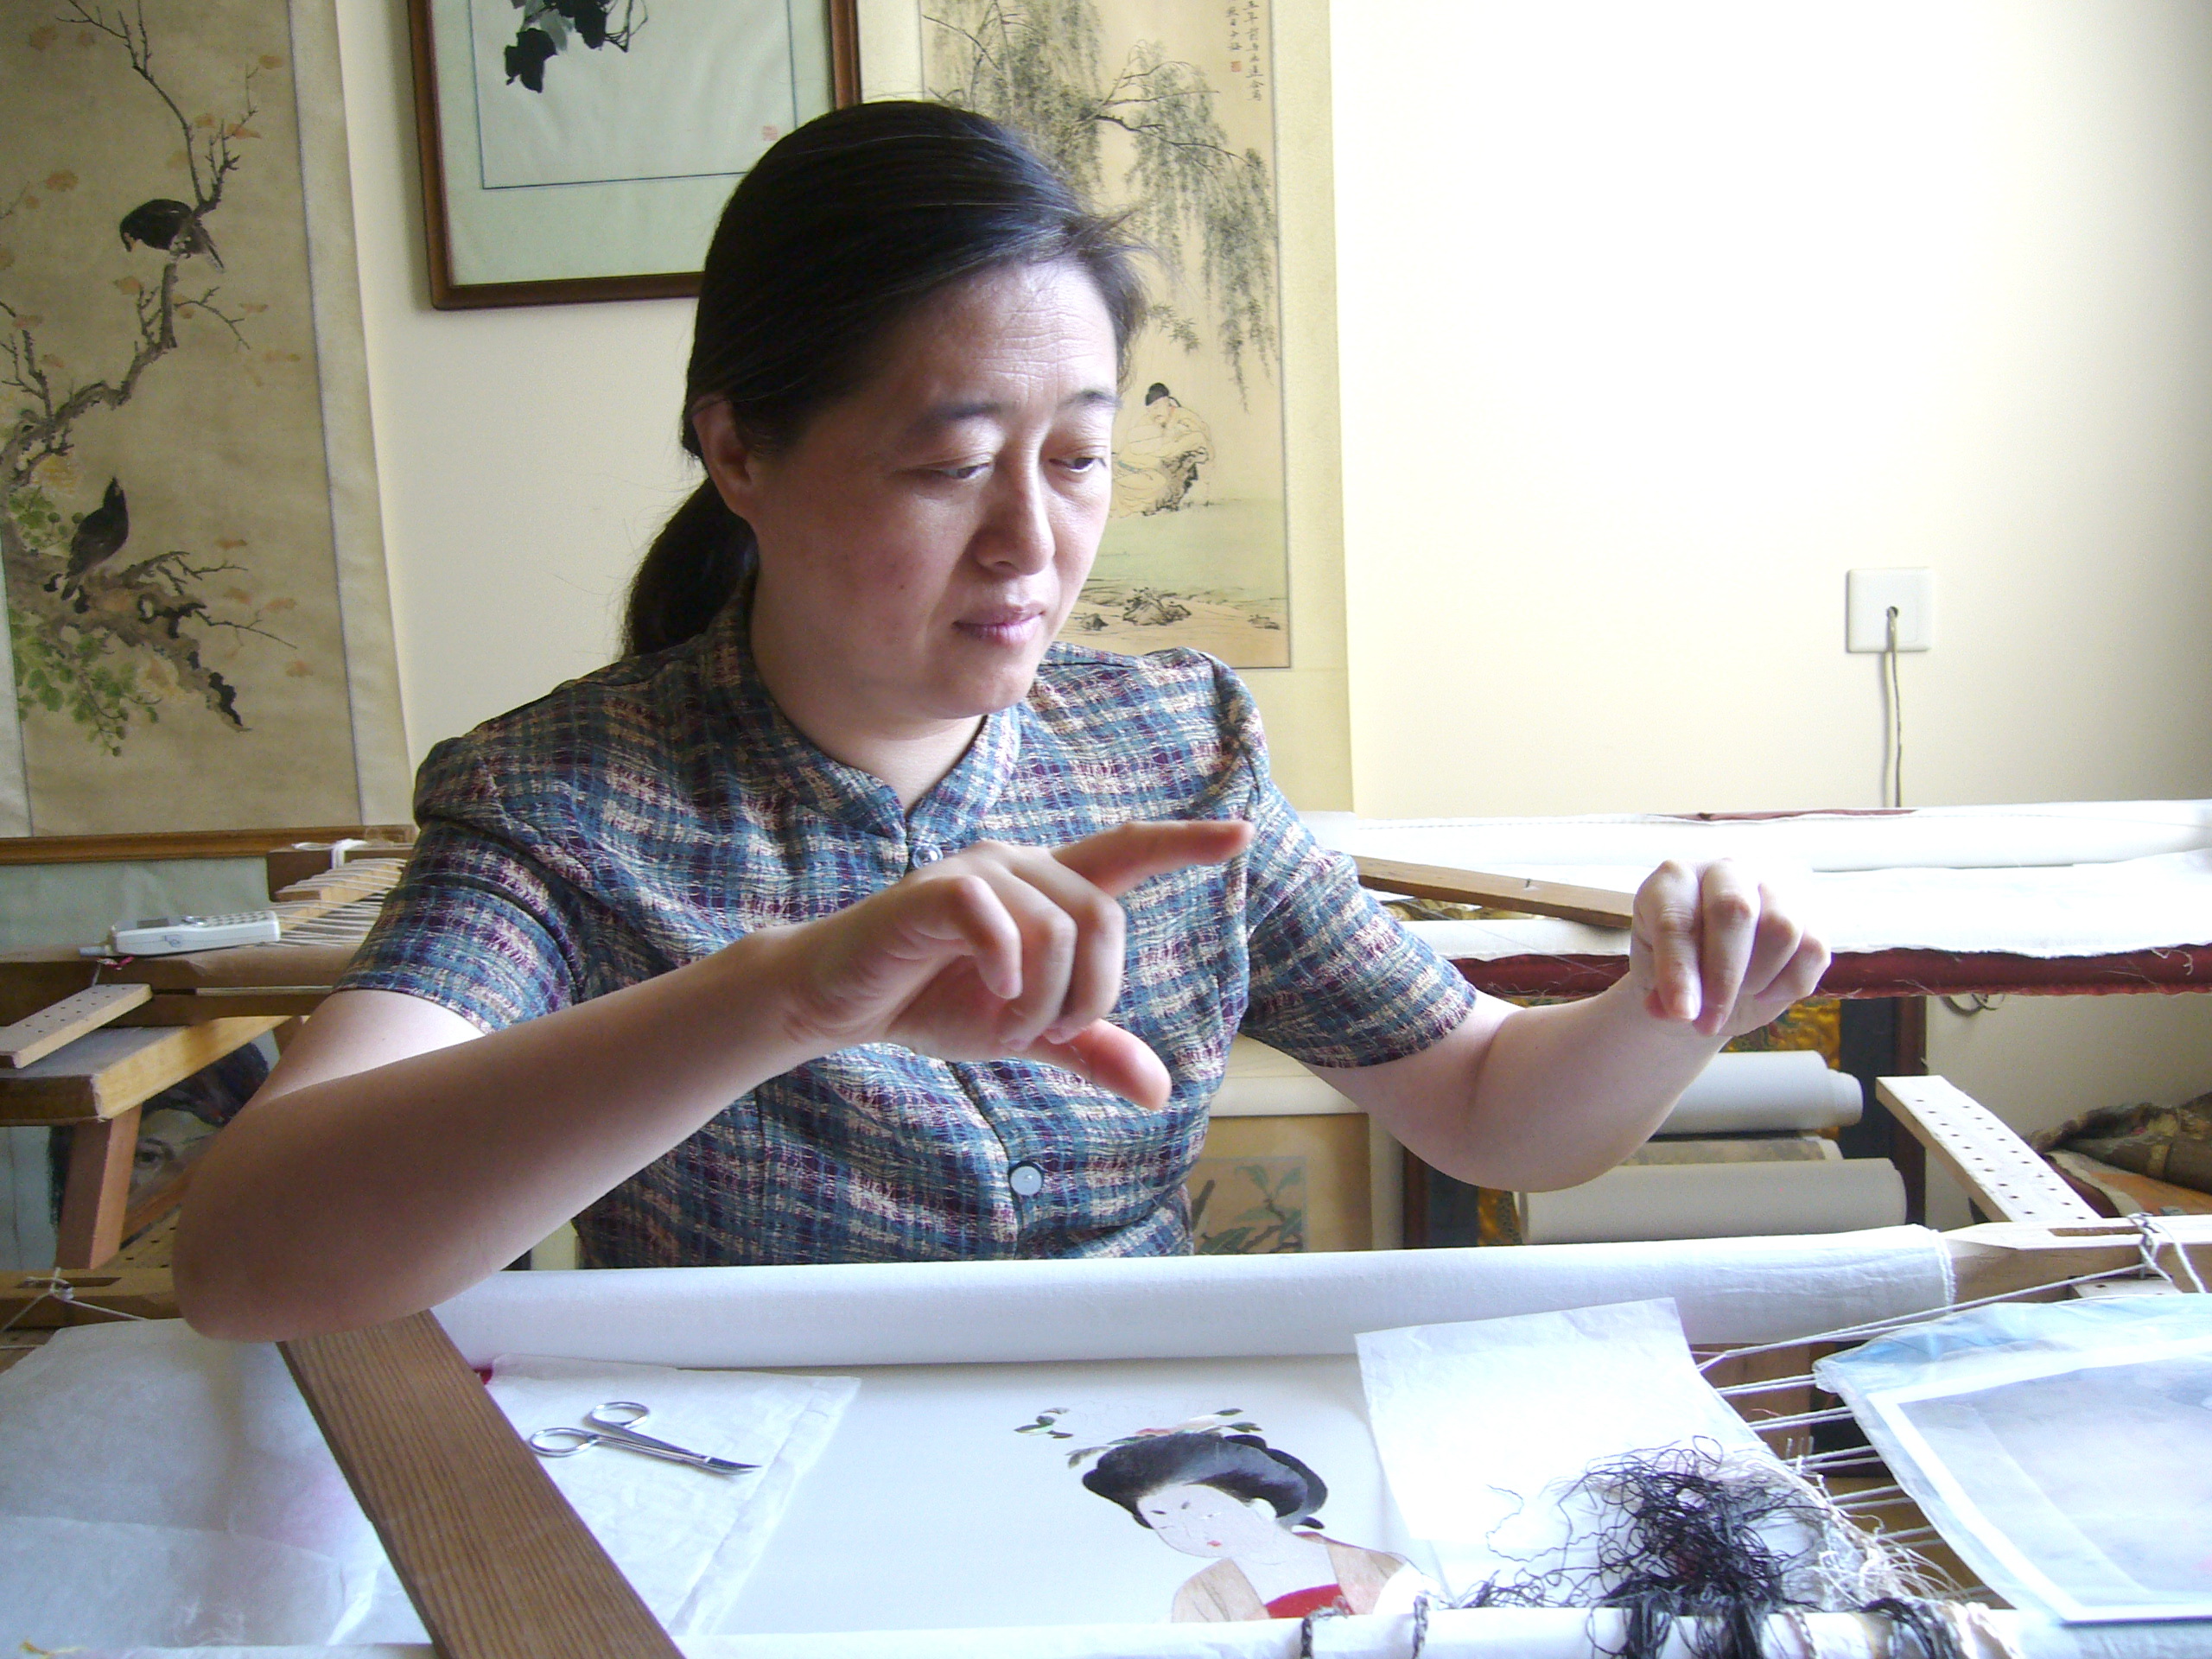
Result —
[[465, 743], [440, 743], [416, 779], [422, 836], [341, 991], [400, 991], [480, 1031], [575, 1002], [564, 889], [502, 834], [504, 814]]

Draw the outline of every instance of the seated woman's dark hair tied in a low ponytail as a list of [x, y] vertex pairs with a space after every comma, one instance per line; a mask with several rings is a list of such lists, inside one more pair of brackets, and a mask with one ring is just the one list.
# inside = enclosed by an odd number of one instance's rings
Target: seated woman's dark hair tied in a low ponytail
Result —
[[[690, 416], [726, 398], [748, 442], [776, 449], [854, 392], [883, 336], [987, 270], [1073, 259], [1097, 283], [1115, 352], [1144, 321], [1135, 246], [1013, 133], [949, 104], [854, 104], [779, 139], [730, 195], [699, 279]], [[714, 482], [692, 491], [630, 580], [624, 648], [701, 633], [752, 568], [754, 540]]]

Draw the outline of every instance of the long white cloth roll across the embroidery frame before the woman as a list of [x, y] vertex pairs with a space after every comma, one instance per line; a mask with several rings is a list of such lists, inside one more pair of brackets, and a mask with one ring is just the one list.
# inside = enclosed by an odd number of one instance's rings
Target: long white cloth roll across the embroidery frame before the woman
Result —
[[535, 1352], [843, 1367], [1352, 1354], [1360, 1332], [1648, 1296], [1672, 1296], [1697, 1343], [1772, 1343], [1942, 1307], [1951, 1265], [1938, 1234], [1885, 1228], [1666, 1248], [526, 1272], [436, 1312], [471, 1365]]

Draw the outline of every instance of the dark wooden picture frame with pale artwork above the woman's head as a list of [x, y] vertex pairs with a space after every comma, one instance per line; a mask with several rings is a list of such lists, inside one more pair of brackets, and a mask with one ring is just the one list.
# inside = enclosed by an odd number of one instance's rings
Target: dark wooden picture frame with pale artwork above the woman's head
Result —
[[860, 100], [854, 0], [407, 0], [407, 22], [438, 310], [697, 294], [745, 168]]

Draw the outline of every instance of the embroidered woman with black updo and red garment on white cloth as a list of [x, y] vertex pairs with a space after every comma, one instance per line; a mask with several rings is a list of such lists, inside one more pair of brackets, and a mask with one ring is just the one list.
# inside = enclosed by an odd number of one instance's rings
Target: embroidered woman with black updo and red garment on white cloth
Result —
[[1405, 1557], [1323, 1537], [1314, 1511], [1329, 1489], [1321, 1475], [1252, 1433], [1124, 1440], [1084, 1486], [1168, 1548], [1212, 1562], [1175, 1593], [1177, 1621], [1398, 1613], [1425, 1588]]

